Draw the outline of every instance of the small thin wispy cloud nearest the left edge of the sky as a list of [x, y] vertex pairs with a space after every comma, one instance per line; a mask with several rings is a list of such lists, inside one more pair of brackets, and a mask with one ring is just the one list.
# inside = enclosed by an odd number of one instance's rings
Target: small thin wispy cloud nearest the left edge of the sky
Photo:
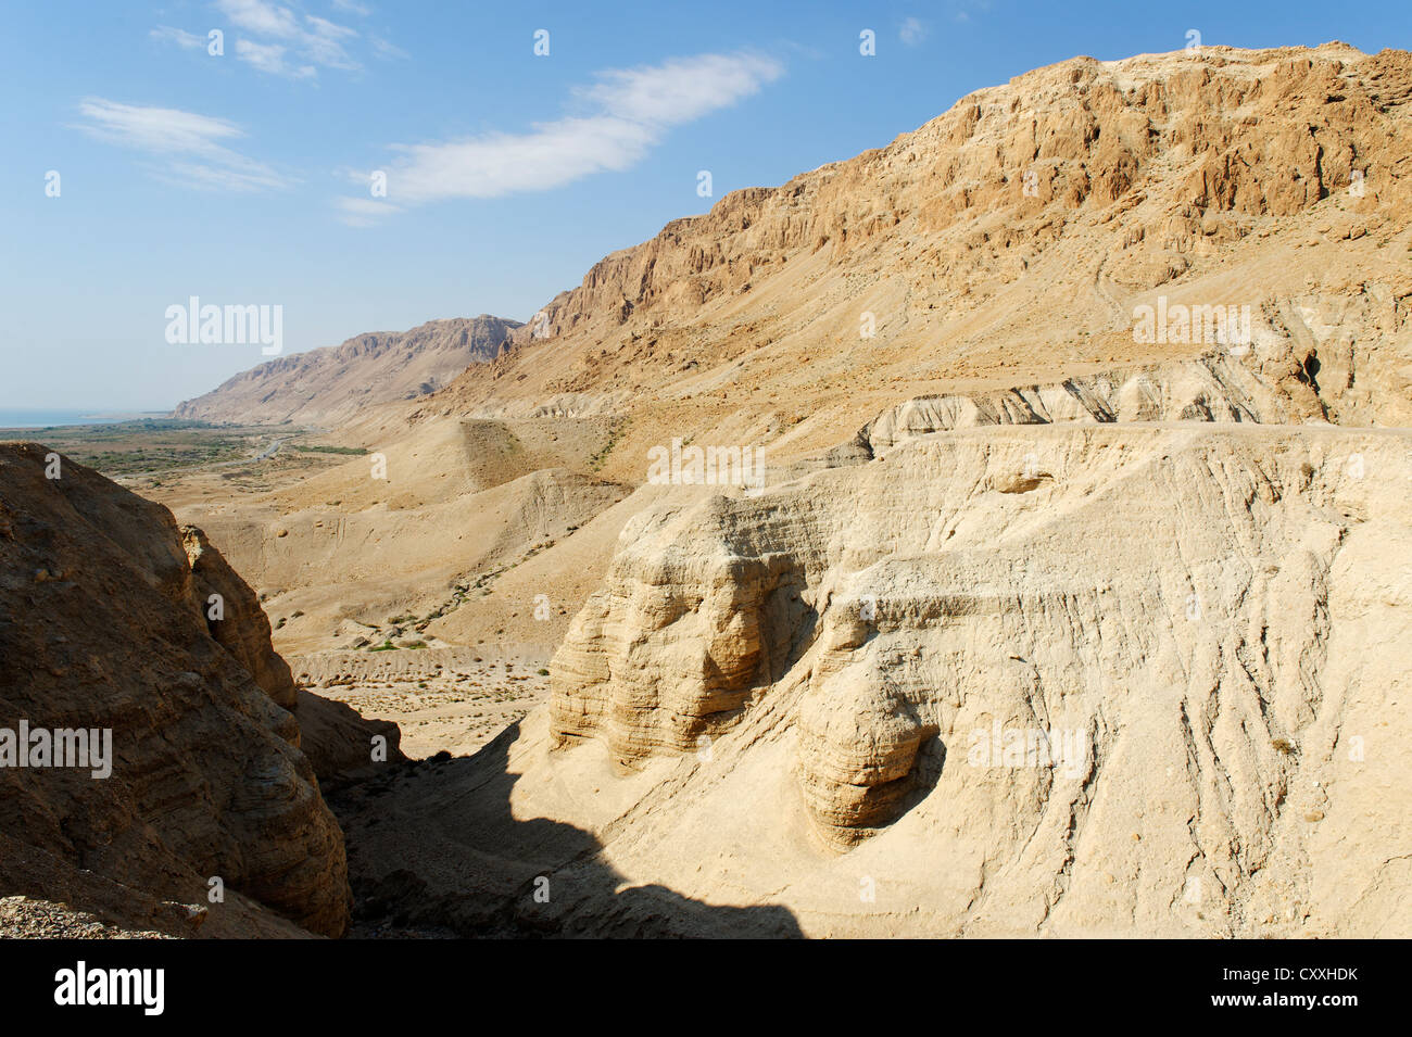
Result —
[[241, 192], [289, 185], [268, 165], [227, 147], [227, 141], [246, 133], [225, 119], [104, 97], [85, 97], [79, 114], [83, 121], [76, 124], [78, 130], [158, 159], [154, 172], [167, 182]]

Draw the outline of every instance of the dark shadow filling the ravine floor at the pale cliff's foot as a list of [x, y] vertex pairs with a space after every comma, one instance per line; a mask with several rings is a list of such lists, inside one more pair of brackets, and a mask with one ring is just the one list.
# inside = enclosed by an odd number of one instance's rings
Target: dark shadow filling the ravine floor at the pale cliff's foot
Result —
[[330, 797], [349, 854], [354, 937], [799, 937], [781, 906], [707, 904], [624, 886], [597, 838], [517, 820], [513, 724], [473, 756], [388, 765]]

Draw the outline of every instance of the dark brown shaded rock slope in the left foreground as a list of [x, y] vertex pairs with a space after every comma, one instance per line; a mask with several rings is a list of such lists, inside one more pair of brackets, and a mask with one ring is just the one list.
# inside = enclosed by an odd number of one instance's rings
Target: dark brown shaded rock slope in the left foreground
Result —
[[201, 530], [56, 457], [0, 447], [0, 728], [110, 732], [112, 773], [0, 766], [0, 887], [138, 928], [340, 935], [343, 837], [253, 593]]

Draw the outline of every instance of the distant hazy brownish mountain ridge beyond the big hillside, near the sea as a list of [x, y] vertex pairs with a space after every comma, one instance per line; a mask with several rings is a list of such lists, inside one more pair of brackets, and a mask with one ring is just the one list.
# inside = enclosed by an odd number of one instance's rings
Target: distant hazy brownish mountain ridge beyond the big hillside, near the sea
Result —
[[206, 422], [329, 426], [374, 404], [435, 392], [491, 360], [518, 327], [489, 315], [429, 320], [409, 332], [369, 332], [237, 374], [174, 415]]

